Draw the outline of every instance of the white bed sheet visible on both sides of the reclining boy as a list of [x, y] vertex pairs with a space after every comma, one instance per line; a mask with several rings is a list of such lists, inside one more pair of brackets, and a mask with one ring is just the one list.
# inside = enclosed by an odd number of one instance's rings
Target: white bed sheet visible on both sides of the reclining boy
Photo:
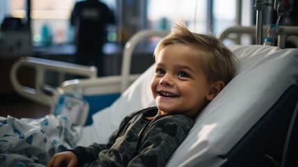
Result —
[[[282, 93], [297, 82], [298, 49], [262, 45], [233, 45], [240, 67], [235, 78], [206, 106], [188, 137], [167, 166], [218, 166], [235, 143], [264, 115]], [[83, 127], [77, 145], [106, 142], [128, 113], [154, 106], [150, 81], [154, 65], [142, 74], [112, 106], [94, 114]]]

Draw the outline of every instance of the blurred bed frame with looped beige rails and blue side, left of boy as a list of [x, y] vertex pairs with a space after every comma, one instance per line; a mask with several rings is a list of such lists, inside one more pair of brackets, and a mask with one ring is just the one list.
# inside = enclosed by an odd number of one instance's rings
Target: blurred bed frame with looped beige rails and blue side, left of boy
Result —
[[[137, 79], [140, 74], [130, 74], [131, 57], [138, 42], [148, 37], [163, 37], [168, 31], [140, 31], [126, 42], [123, 60], [122, 74], [97, 78], [97, 68], [60, 61], [50, 61], [43, 58], [24, 57], [17, 61], [11, 70], [10, 79], [13, 88], [19, 95], [35, 102], [51, 106], [51, 113], [58, 114], [63, 111], [65, 103], [72, 103], [72, 112], [83, 112], [83, 116], [74, 116], [76, 125], [90, 125], [92, 114], [110, 106], [126, 88]], [[22, 85], [17, 78], [17, 72], [21, 67], [31, 67], [35, 70], [34, 86]], [[45, 84], [47, 72], [58, 73], [58, 88], [51, 88]], [[67, 74], [81, 75], [87, 79], [73, 79], [65, 81]], [[76, 97], [75, 97], [76, 96]], [[78, 100], [81, 96], [83, 101]], [[62, 107], [62, 108], [61, 108]], [[78, 111], [79, 110], [79, 111]]]

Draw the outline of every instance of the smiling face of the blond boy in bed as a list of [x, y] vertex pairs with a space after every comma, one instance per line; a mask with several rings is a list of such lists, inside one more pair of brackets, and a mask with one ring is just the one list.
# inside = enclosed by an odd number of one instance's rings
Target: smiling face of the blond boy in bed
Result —
[[192, 48], [167, 45], [156, 57], [151, 90], [159, 114], [183, 113], [194, 118], [213, 99], [212, 88]]

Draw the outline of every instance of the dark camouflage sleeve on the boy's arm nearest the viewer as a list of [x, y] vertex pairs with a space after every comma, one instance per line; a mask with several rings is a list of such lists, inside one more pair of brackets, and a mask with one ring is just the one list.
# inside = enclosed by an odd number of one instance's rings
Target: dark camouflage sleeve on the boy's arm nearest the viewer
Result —
[[153, 120], [144, 130], [138, 155], [129, 166], [165, 166], [193, 125], [194, 120], [180, 114]]

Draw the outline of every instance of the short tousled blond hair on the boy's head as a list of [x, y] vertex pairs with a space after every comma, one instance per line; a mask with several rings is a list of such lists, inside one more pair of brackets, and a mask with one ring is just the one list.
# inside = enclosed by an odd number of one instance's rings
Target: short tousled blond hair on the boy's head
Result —
[[188, 45], [194, 49], [195, 54], [201, 55], [201, 67], [208, 81], [224, 81], [224, 84], [228, 84], [233, 79], [237, 58], [213, 35], [192, 33], [184, 22], [178, 22], [173, 26], [172, 32], [160, 40], [154, 56], [158, 56], [161, 49], [172, 44]]

